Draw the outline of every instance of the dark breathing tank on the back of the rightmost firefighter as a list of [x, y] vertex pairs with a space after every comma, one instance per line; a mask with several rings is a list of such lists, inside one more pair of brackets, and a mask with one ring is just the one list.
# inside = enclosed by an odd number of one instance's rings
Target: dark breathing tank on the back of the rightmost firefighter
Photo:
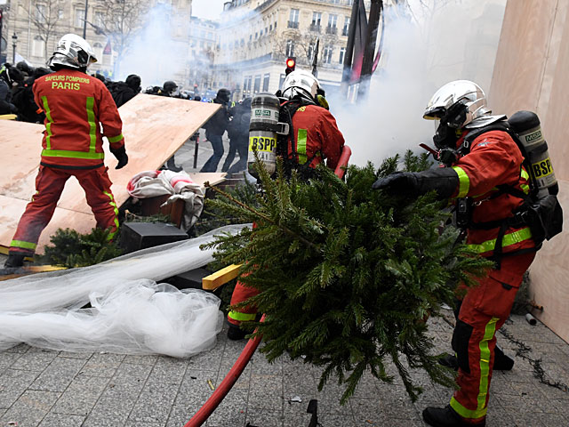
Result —
[[509, 117], [508, 123], [525, 149], [525, 158], [530, 164], [527, 172], [538, 193], [557, 195], [559, 186], [549, 158], [548, 143], [541, 133], [539, 117], [532, 111], [517, 111]]

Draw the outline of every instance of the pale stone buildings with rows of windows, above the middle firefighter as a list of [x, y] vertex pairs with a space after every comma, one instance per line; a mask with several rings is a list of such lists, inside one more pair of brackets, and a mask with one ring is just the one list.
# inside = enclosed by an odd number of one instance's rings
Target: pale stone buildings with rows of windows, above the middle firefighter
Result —
[[[369, 2], [365, 2], [369, 7]], [[233, 0], [221, 14], [213, 82], [239, 100], [275, 93], [285, 60], [312, 71], [325, 89], [341, 83], [353, 0]]]

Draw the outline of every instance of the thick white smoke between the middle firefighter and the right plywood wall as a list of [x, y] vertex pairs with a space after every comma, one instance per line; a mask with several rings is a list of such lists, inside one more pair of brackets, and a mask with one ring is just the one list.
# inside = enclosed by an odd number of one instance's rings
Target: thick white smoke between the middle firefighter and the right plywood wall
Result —
[[[412, 2], [410, 2], [412, 3]], [[435, 133], [423, 111], [445, 83], [467, 79], [486, 91], [500, 38], [505, 0], [432, 0], [386, 9], [383, 53], [365, 101], [331, 100], [352, 149], [350, 164], [376, 167], [406, 149], [421, 152]]]

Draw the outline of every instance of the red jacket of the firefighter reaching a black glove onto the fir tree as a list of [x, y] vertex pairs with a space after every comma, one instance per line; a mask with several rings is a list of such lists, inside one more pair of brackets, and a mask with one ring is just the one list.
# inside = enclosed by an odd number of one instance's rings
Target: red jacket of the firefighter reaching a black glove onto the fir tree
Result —
[[[462, 139], [458, 145], [461, 143]], [[454, 197], [472, 197], [472, 222], [492, 222], [513, 216], [512, 211], [522, 205], [523, 199], [503, 193], [497, 186], [507, 184], [528, 194], [529, 175], [522, 167], [523, 161], [516, 142], [506, 132], [482, 133], [472, 141], [469, 154], [453, 165], [459, 175], [459, 188], [455, 190]], [[478, 254], [490, 256], [499, 230], [469, 228], [466, 243]], [[533, 248], [529, 227], [507, 229], [501, 246], [503, 254]], [[504, 271], [504, 274], [508, 273]]]

